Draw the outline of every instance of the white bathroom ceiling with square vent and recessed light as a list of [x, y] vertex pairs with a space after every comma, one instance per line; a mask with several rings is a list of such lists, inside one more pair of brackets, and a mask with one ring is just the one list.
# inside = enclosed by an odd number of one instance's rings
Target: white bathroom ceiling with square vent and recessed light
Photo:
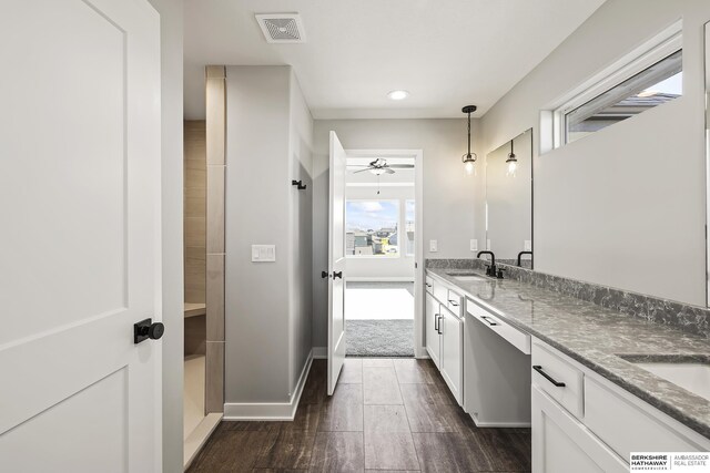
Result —
[[[204, 117], [205, 64], [291, 64], [314, 119], [481, 116], [604, 1], [186, 0], [185, 117]], [[307, 41], [267, 43], [254, 14], [276, 12]]]

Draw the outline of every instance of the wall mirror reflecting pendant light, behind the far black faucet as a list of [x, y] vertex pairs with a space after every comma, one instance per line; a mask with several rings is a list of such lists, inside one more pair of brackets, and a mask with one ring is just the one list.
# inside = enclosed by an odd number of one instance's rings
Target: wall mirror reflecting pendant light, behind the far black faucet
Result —
[[[486, 156], [486, 247], [496, 261], [532, 268], [532, 130]], [[523, 251], [523, 254], [521, 254]]]

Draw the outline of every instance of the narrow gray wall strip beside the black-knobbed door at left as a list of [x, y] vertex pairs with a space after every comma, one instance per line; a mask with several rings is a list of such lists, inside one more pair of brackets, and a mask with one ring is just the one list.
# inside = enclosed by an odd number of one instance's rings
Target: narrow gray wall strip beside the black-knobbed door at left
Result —
[[150, 0], [160, 13], [162, 120], [163, 471], [183, 461], [182, 25], [183, 2]]

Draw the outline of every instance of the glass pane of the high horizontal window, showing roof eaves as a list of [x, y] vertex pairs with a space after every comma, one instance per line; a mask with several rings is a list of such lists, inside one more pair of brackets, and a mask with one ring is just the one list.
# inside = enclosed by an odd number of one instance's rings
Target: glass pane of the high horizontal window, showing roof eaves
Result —
[[565, 113], [565, 143], [571, 143], [682, 95], [682, 51], [677, 51]]

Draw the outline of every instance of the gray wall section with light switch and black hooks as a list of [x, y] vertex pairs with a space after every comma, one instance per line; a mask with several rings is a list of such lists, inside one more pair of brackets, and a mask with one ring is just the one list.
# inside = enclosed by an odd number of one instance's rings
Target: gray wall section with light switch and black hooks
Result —
[[[312, 124], [290, 66], [227, 66], [226, 76], [225, 402], [286, 402], [312, 346], [300, 275], [311, 203], [291, 185], [296, 175], [310, 184]], [[276, 245], [276, 261], [252, 263], [253, 244]]]

